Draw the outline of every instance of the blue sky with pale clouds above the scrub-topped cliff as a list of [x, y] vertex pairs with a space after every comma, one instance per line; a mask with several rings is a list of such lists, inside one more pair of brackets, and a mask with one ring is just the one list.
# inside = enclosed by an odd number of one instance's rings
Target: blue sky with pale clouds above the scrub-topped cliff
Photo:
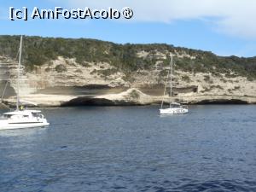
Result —
[[[9, 8], [123, 9], [130, 20], [10, 20]], [[172, 44], [217, 55], [256, 56], [255, 0], [0, 0], [0, 35]]]

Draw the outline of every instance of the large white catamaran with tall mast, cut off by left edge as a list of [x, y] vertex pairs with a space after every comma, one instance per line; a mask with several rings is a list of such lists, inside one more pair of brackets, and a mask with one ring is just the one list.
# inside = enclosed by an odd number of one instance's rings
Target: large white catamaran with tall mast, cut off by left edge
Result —
[[[19, 66], [18, 66], [18, 77], [17, 77], [17, 101], [16, 110], [8, 113], [3, 113], [0, 118], [0, 130], [9, 129], [21, 129], [21, 128], [32, 128], [32, 127], [44, 127], [48, 126], [49, 123], [44, 115], [39, 110], [28, 110], [23, 109], [20, 106], [20, 62], [22, 52], [22, 36], [20, 37], [20, 49], [19, 49]], [[32, 103], [32, 102], [28, 102]]]

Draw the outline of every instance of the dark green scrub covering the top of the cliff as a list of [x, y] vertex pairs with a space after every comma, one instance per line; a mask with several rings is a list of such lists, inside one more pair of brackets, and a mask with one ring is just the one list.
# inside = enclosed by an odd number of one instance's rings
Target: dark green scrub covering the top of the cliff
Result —
[[[19, 36], [0, 36], [0, 55], [15, 58], [20, 44]], [[140, 58], [137, 53], [147, 51], [151, 56]], [[81, 65], [87, 62], [106, 61], [119, 71], [133, 72], [137, 69], [154, 67], [156, 61], [167, 65], [170, 58], [168, 52], [177, 52], [189, 57], [175, 58], [177, 68], [187, 72], [227, 73], [242, 75], [248, 79], [256, 78], [256, 57], [240, 58], [236, 56], [222, 57], [211, 52], [174, 47], [167, 44], [113, 44], [95, 39], [73, 38], [40, 38], [25, 37], [23, 44], [23, 64], [27, 70], [43, 65], [57, 56], [76, 58]], [[156, 52], [166, 54], [166, 59], [157, 58]], [[234, 72], [230, 73], [230, 72]]]

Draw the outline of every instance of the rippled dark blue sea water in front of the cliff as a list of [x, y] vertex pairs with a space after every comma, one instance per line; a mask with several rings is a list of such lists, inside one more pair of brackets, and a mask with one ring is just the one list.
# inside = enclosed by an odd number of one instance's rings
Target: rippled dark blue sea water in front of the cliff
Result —
[[0, 191], [256, 191], [256, 106], [43, 109], [0, 131]]

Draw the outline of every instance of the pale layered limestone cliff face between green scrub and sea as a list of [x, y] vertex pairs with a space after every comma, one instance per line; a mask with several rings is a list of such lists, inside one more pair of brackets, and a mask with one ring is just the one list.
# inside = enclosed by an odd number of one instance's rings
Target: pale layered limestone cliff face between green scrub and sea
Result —
[[[60, 48], [61, 49], [61, 48]], [[196, 61], [195, 54], [168, 49], [138, 50], [136, 56], [151, 61], [133, 70], [121, 70], [111, 61], [82, 61], [77, 58], [56, 56], [32, 70], [22, 70], [20, 95], [42, 106], [60, 105], [131, 105], [160, 103], [163, 98], [168, 55], [174, 55], [172, 100], [184, 103], [234, 102], [256, 103], [256, 80], [241, 75], [236, 70], [219, 72], [211, 70], [188, 71], [178, 61]], [[153, 62], [153, 64], [152, 64]], [[15, 99], [17, 64], [10, 55], [0, 52], [1, 92], [5, 80], [10, 79], [8, 102]], [[203, 65], [203, 63], [202, 63]], [[216, 69], [216, 70], [215, 70]], [[164, 99], [169, 101], [169, 97]]]

